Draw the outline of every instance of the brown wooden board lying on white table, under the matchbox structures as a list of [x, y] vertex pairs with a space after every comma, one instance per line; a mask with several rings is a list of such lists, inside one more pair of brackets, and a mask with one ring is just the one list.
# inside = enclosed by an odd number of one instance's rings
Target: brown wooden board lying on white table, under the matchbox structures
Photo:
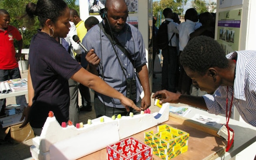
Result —
[[[209, 134], [215, 129], [209, 127], [207, 129], [209, 133], [205, 133], [193, 127], [187, 126], [190, 123], [193, 123], [193, 122], [191, 120], [177, 117], [175, 115], [170, 116], [169, 120], [163, 123], [163, 124], [168, 124], [172, 127], [178, 128], [180, 130], [184, 130], [185, 132], [190, 134], [188, 151], [180, 154], [179, 156], [173, 158], [172, 160], [202, 160], [202, 159], [213, 160], [221, 155], [224, 155], [226, 141], [219, 137]], [[195, 124], [195, 127], [200, 127], [200, 126], [205, 127], [205, 125], [202, 125], [201, 123], [197, 124], [195, 122], [194, 124]], [[151, 130], [153, 130], [154, 133], [156, 133], [157, 127], [155, 126], [145, 131], [151, 131]], [[144, 142], [145, 131], [137, 133], [132, 137]], [[162, 160], [160, 157], [154, 154], [153, 154], [153, 158], [154, 160]], [[85, 157], [82, 157], [79, 160], [106, 160], [106, 148], [99, 150], [97, 152], [94, 152], [92, 154], [89, 154]]]

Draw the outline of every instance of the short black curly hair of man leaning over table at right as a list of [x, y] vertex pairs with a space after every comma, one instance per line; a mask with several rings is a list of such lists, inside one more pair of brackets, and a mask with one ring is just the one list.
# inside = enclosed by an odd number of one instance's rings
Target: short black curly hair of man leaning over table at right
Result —
[[210, 67], [228, 67], [228, 59], [222, 47], [206, 36], [198, 36], [189, 41], [180, 55], [180, 63], [201, 75]]

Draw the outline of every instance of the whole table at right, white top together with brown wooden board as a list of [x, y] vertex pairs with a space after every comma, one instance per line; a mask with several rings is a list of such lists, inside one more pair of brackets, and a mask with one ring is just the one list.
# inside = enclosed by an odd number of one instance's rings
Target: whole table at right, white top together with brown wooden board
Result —
[[[171, 105], [175, 106], [176, 104]], [[182, 104], [179, 104], [178, 106], [182, 106]], [[244, 122], [230, 119], [229, 127], [235, 131], [235, 136], [233, 147], [226, 152], [226, 140], [223, 140], [219, 137], [219, 135], [216, 134], [221, 127], [221, 124], [226, 123], [226, 117], [210, 114], [204, 110], [199, 110], [186, 105], [182, 107], [191, 108], [192, 110], [186, 115], [186, 117], [180, 117], [170, 113], [169, 120], [163, 123], [180, 130], [184, 130], [190, 134], [188, 151], [180, 154], [172, 160], [229, 160], [256, 141], [256, 127]], [[220, 122], [215, 127], [210, 127], [191, 120], [196, 113], [213, 118], [219, 118]], [[137, 133], [132, 137], [144, 142], [144, 133], [151, 130], [156, 133], [157, 127], [152, 127], [148, 130]], [[161, 160], [154, 154], [153, 159]], [[80, 158], [79, 160], [106, 160], [106, 148], [91, 153]]]

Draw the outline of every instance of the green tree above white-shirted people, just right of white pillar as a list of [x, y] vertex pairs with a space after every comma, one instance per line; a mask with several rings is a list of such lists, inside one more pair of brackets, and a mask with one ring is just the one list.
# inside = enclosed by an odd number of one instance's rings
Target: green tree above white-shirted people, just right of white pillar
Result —
[[158, 22], [156, 26], [159, 27], [161, 24], [161, 20], [165, 17], [162, 14], [165, 8], [171, 8], [173, 12], [182, 15], [183, 13], [183, 6], [186, 5], [188, 0], [160, 0], [153, 2], [153, 15], [158, 17]]

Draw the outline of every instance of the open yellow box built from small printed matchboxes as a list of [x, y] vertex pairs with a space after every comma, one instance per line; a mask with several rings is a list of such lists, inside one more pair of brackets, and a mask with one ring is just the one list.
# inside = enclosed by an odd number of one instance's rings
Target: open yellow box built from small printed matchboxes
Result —
[[169, 160], [188, 150], [189, 133], [167, 124], [157, 126], [158, 133], [145, 132], [145, 144], [162, 160]]

